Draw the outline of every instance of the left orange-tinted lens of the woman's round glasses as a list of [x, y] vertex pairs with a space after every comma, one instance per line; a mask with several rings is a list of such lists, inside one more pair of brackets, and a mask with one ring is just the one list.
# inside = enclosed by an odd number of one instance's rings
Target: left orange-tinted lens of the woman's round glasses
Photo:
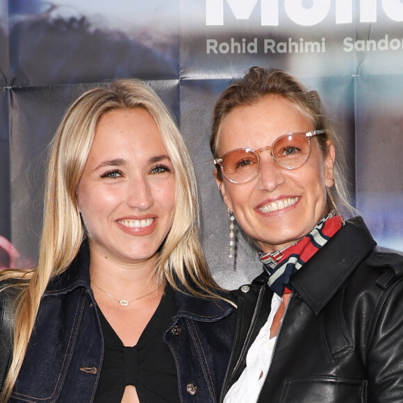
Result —
[[254, 151], [247, 149], [233, 150], [222, 161], [224, 176], [231, 182], [250, 181], [258, 171], [259, 161]]

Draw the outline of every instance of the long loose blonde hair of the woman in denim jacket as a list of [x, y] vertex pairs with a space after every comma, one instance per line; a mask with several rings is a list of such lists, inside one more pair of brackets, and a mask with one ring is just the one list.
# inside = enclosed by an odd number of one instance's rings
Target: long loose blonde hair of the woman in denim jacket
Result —
[[[85, 238], [77, 187], [101, 116], [111, 110], [144, 108], [154, 118], [175, 172], [176, 206], [172, 228], [160, 248], [155, 274], [175, 289], [217, 298], [219, 289], [199, 241], [199, 203], [195, 172], [185, 142], [156, 93], [142, 81], [117, 80], [81, 95], [67, 109], [51, 141], [44, 194], [44, 222], [35, 270], [7, 270], [0, 280], [19, 279], [15, 303], [13, 360], [1, 401], [8, 400], [24, 360], [40, 300], [51, 279], [72, 263]], [[179, 283], [179, 284], [178, 284]], [[3, 283], [4, 284], [4, 283]]]

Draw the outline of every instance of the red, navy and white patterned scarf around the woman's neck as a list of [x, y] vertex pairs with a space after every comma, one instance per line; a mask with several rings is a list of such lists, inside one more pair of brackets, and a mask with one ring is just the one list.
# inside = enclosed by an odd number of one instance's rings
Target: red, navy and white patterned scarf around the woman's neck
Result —
[[265, 270], [269, 273], [269, 286], [280, 297], [292, 293], [290, 278], [341, 228], [343, 221], [331, 211], [318, 222], [316, 227], [294, 245], [276, 252], [259, 253]]

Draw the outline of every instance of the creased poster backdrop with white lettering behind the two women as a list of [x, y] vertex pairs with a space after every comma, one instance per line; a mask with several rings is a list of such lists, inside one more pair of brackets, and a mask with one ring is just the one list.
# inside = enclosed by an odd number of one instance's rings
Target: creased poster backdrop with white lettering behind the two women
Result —
[[261, 266], [238, 229], [228, 258], [208, 147], [215, 100], [252, 65], [318, 90], [343, 138], [356, 208], [380, 247], [403, 251], [401, 0], [0, 0], [0, 266], [35, 263], [47, 144], [69, 103], [138, 77], [190, 149], [215, 279], [252, 279]]

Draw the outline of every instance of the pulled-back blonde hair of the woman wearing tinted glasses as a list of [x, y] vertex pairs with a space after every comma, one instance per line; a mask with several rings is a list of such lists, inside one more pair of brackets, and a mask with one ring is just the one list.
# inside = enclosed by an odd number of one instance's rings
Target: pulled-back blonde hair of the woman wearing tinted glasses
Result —
[[[262, 97], [277, 95], [287, 99], [301, 110], [311, 120], [315, 130], [323, 130], [325, 135], [315, 137], [322, 154], [328, 152], [327, 140], [332, 140], [336, 148], [336, 161], [334, 163], [333, 179], [334, 199], [343, 205], [345, 210], [354, 214], [355, 209], [350, 204], [347, 181], [345, 179], [345, 156], [341, 146], [340, 137], [331, 128], [327, 120], [326, 112], [322, 106], [319, 94], [316, 91], [307, 90], [295, 77], [280, 69], [265, 69], [263, 67], [251, 67], [245, 76], [229, 85], [222, 92], [214, 108], [213, 126], [211, 129], [210, 148], [214, 158], [219, 158], [220, 128], [227, 115], [237, 106], [253, 105]], [[217, 165], [217, 177], [222, 181], [220, 165]], [[331, 208], [331, 199], [327, 196], [327, 206]]]

